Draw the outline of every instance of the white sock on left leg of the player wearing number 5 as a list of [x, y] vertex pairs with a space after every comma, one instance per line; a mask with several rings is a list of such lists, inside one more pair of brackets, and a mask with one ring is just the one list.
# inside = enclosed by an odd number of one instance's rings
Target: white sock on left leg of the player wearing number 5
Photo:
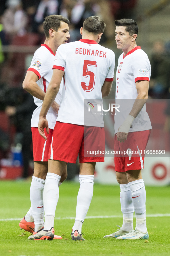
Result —
[[44, 216], [45, 216], [45, 230], [50, 230], [51, 227], [54, 227], [54, 217], [56, 206], [59, 198], [59, 188], [58, 183], [61, 179], [61, 176], [48, 172], [45, 179], [44, 186]]

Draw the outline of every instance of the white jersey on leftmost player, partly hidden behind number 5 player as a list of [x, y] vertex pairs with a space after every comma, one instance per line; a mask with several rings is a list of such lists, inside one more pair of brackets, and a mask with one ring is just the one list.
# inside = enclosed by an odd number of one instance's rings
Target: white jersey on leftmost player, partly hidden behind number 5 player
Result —
[[[33, 59], [31, 61], [31, 65], [28, 70], [33, 71], [38, 77], [37, 81], [38, 86], [44, 91], [47, 91], [47, 87], [53, 75], [53, 63], [55, 59], [55, 54], [48, 47], [47, 44], [41, 44], [41, 47], [35, 51]], [[60, 105], [62, 94], [62, 83], [60, 86], [60, 90], [56, 96], [55, 101]], [[33, 112], [33, 116], [31, 119], [31, 127], [38, 127], [39, 122], [39, 114], [41, 111], [41, 107], [43, 101], [34, 97], [34, 102], [37, 105], [37, 108]], [[47, 113], [47, 120], [50, 129], [54, 129], [56, 124], [57, 113], [56, 111], [50, 107]]]

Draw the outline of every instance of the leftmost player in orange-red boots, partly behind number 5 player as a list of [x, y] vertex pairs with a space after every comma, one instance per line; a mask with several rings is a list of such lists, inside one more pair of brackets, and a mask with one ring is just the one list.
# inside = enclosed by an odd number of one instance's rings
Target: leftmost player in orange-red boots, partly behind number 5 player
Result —
[[[51, 15], [43, 23], [45, 42], [35, 52], [31, 65], [28, 68], [23, 88], [34, 96], [37, 108], [33, 112], [31, 129], [33, 136], [34, 174], [30, 186], [31, 207], [26, 216], [20, 221], [20, 228], [30, 233], [36, 233], [44, 227], [43, 189], [48, 170], [48, 152], [51, 144], [53, 129], [56, 124], [57, 112], [61, 101], [62, 87], [56, 99], [51, 103], [47, 113], [49, 134], [45, 141], [38, 132], [39, 113], [43, 104], [45, 93], [53, 74], [55, 53], [60, 44], [66, 44], [70, 38], [69, 20], [61, 15]], [[59, 185], [67, 177], [66, 167]], [[55, 238], [62, 238], [55, 236]]]

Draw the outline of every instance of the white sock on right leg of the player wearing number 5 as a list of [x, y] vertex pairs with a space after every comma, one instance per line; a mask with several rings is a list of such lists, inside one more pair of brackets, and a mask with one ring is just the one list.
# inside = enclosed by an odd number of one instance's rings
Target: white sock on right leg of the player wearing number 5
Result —
[[75, 224], [72, 227], [72, 232], [76, 229], [81, 234], [85, 216], [88, 212], [91, 199], [93, 196], [94, 175], [79, 175], [80, 188], [77, 195], [76, 218]]

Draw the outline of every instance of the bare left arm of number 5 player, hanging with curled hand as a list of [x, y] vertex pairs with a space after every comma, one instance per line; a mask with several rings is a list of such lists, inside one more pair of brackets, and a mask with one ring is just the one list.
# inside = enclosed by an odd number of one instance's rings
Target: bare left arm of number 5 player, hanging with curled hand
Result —
[[49, 86], [47, 88], [47, 92], [45, 94], [43, 105], [39, 115], [40, 118], [39, 118], [38, 130], [40, 135], [43, 136], [45, 140], [47, 139], [47, 137], [45, 136], [44, 128], [46, 128], [47, 133], [49, 133], [48, 121], [46, 119], [46, 115], [60, 89], [60, 83], [63, 75], [64, 75], [64, 71], [58, 70], [58, 69], [53, 70], [53, 75], [49, 83]]

